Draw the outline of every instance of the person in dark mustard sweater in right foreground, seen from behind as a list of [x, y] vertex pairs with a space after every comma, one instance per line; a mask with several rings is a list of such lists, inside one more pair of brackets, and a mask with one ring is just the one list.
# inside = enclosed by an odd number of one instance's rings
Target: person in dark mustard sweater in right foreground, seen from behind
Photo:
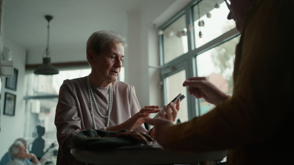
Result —
[[176, 125], [146, 121], [156, 126], [155, 138], [167, 149], [227, 149], [226, 165], [293, 165], [294, 0], [230, 0], [228, 7], [228, 19], [242, 34], [232, 96], [206, 78], [190, 78], [183, 86], [215, 104], [213, 110]]

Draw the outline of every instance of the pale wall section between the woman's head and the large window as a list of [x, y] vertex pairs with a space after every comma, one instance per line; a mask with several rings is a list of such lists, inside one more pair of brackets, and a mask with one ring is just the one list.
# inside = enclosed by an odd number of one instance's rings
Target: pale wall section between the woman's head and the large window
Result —
[[[156, 5], [146, 3], [141, 11], [128, 12], [127, 82], [135, 86], [141, 107], [161, 105], [159, 69], [148, 67], [159, 65], [157, 27], [189, 1], [191, 0], [158, 0]], [[170, 7], [174, 4], [179, 6], [177, 10]], [[167, 10], [169, 17], [160, 17]], [[161, 19], [156, 21], [158, 18]]]

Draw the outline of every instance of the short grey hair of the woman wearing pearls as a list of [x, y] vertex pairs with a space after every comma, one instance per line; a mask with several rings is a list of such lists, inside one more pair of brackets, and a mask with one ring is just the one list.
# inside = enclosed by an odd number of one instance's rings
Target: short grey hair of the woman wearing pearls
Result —
[[[111, 42], [120, 42], [123, 44], [123, 47], [127, 47], [127, 42], [119, 33], [110, 30], [100, 30], [94, 32], [87, 41], [87, 49], [86, 52], [88, 53], [89, 50], [94, 51], [96, 54], [102, 53], [107, 46], [107, 43]], [[87, 61], [91, 67], [91, 64], [88, 60]]]

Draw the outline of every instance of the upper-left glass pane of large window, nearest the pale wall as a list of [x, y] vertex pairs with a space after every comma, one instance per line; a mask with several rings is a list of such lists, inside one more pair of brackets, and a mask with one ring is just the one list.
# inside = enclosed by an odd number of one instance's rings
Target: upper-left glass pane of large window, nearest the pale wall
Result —
[[186, 15], [182, 15], [170, 26], [164, 29], [164, 62], [168, 63], [173, 59], [188, 52]]

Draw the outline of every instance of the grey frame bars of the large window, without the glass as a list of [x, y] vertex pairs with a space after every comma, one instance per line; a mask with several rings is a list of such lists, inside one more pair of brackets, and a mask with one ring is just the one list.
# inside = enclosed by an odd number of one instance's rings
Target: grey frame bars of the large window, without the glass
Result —
[[[179, 12], [177, 12], [175, 15], [173, 15], [168, 21], [166, 21], [164, 24], [159, 26], [159, 29], [166, 29], [169, 25], [172, 24], [175, 20], [177, 20], [179, 17], [181, 17], [183, 14], [186, 15], [186, 28], [188, 29], [188, 25], [192, 24], [194, 25], [194, 13], [193, 13], [193, 7], [197, 5], [197, 3], [200, 3], [202, 0], [192, 0], [189, 4], [187, 4], [185, 7], [183, 7]], [[229, 11], [228, 11], [229, 13]], [[164, 41], [163, 41], [163, 35], [159, 35], [159, 59], [160, 59], [160, 80], [163, 84], [163, 87], [161, 88], [161, 100], [162, 104], [165, 104], [166, 102], [166, 90], [167, 90], [167, 84], [165, 81], [166, 75], [170, 75], [172, 71], [170, 68], [177, 65], [177, 63], [180, 62], [187, 62], [188, 63], [188, 70], [186, 71], [187, 79], [190, 77], [197, 76], [197, 62], [196, 62], [196, 56], [199, 54], [210, 50], [226, 41], [229, 41], [237, 36], [240, 35], [240, 32], [235, 28], [229, 30], [228, 32], [222, 34], [221, 36], [215, 38], [212, 41], [209, 41], [202, 46], [196, 48], [195, 46], [195, 32], [194, 30], [187, 30], [187, 40], [188, 40], [188, 52], [173, 59], [170, 62], [165, 63], [164, 62]], [[235, 45], [234, 45], [235, 46]], [[184, 82], [185, 80], [183, 80]], [[200, 100], [196, 99], [192, 95], [187, 96], [188, 99], [188, 118], [191, 120], [192, 118], [199, 116], [200, 113]]]

